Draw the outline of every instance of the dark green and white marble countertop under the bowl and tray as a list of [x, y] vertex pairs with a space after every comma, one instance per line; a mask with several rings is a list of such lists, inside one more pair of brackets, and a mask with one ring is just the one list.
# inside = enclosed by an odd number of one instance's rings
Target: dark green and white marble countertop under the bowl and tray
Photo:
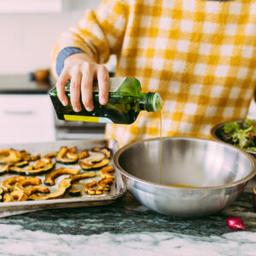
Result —
[[[243, 218], [246, 230], [226, 219]], [[0, 218], [0, 255], [255, 255], [253, 189], [205, 218], [167, 217], [127, 193], [112, 205], [29, 212]]]

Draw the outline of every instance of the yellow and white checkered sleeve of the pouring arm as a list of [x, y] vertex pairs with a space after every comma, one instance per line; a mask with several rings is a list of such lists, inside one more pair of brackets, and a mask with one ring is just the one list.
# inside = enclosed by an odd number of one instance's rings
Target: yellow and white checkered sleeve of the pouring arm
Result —
[[87, 9], [77, 26], [63, 32], [51, 57], [55, 77], [60, 73], [56, 68], [63, 64], [57, 61], [64, 61], [59, 57], [63, 49], [80, 49], [98, 63], [107, 62], [109, 55], [117, 55], [123, 43], [128, 7], [124, 0], [104, 0], [96, 11]]

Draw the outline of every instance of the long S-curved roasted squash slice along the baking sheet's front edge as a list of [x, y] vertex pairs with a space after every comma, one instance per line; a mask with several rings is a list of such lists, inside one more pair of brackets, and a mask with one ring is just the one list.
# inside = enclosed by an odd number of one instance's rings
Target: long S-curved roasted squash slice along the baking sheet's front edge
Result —
[[49, 200], [49, 199], [56, 199], [60, 198], [63, 195], [65, 195], [67, 189], [69, 189], [72, 186], [72, 179], [71, 178], [64, 178], [61, 180], [61, 183], [59, 185], [59, 189], [56, 190], [53, 193], [49, 193], [48, 195], [30, 195], [28, 197], [29, 200]]

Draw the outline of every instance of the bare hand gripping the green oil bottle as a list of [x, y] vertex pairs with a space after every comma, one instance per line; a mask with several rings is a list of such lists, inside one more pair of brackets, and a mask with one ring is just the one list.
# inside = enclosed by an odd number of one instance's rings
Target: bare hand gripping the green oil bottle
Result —
[[97, 79], [99, 84], [100, 104], [108, 103], [109, 75], [108, 69], [97, 64], [89, 55], [78, 53], [70, 55], [64, 62], [61, 75], [56, 83], [57, 96], [63, 106], [67, 106], [65, 85], [70, 80], [70, 100], [75, 112], [82, 110], [80, 96], [87, 111], [94, 109], [92, 101], [92, 84]]

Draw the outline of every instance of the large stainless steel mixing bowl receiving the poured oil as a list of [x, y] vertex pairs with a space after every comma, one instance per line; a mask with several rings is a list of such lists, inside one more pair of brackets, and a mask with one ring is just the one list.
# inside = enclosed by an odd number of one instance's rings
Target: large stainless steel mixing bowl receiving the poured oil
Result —
[[162, 138], [161, 181], [160, 138], [120, 148], [113, 163], [117, 178], [144, 206], [166, 215], [189, 218], [229, 206], [256, 173], [253, 157], [243, 150], [189, 137]]

